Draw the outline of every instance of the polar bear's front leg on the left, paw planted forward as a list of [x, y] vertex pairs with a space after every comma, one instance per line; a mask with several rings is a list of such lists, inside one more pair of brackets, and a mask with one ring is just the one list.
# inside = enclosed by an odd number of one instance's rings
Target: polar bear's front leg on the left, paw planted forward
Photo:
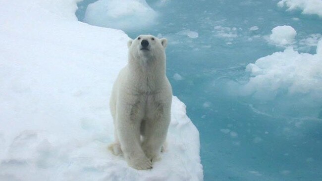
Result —
[[[133, 106], [122, 108], [117, 114], [117, 134], [123, 155], [128, 165], [137, 170], [152, 168], [152, 162], [145, 156], [141, 148], [140, 125], [141, 119], [133, 115]], [[128, 111], [127, 111], [128, 110]]]

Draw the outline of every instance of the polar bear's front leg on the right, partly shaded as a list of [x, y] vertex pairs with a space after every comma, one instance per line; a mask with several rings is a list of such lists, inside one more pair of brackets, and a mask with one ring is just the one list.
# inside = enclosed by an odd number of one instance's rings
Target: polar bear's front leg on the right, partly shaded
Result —
[[170, 124], [170, 107], [160, 106], [153, 119], [145, 122], [142, 149], [152, 162], [158, 161]]

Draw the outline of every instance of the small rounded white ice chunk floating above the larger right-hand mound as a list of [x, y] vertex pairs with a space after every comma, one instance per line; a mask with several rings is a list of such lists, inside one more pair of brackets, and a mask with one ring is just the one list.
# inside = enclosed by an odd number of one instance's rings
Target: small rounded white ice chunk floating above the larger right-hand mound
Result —
[[277, 26], [271, 30], [269, 40], [277, 45], [291, 45], [294, 42], [296, 31], [291, 26]]

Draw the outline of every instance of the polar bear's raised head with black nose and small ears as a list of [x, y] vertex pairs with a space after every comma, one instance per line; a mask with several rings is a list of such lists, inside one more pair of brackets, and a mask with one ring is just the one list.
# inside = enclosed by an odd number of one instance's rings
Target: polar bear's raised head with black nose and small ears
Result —
[[165, 60], [167, 40], [158, 39], [152, 35], [140, 35], [127, 43], [129, 55], [135, 59]]

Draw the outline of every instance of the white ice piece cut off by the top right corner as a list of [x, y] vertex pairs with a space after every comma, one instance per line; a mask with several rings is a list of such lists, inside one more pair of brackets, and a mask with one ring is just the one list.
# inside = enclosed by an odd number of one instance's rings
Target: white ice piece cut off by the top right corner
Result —
[[317, 14], [322, 17], [322, 0], [281, 0], [279, 7], [287, 6], [287, 10], [302, 10], [303, 14]]

